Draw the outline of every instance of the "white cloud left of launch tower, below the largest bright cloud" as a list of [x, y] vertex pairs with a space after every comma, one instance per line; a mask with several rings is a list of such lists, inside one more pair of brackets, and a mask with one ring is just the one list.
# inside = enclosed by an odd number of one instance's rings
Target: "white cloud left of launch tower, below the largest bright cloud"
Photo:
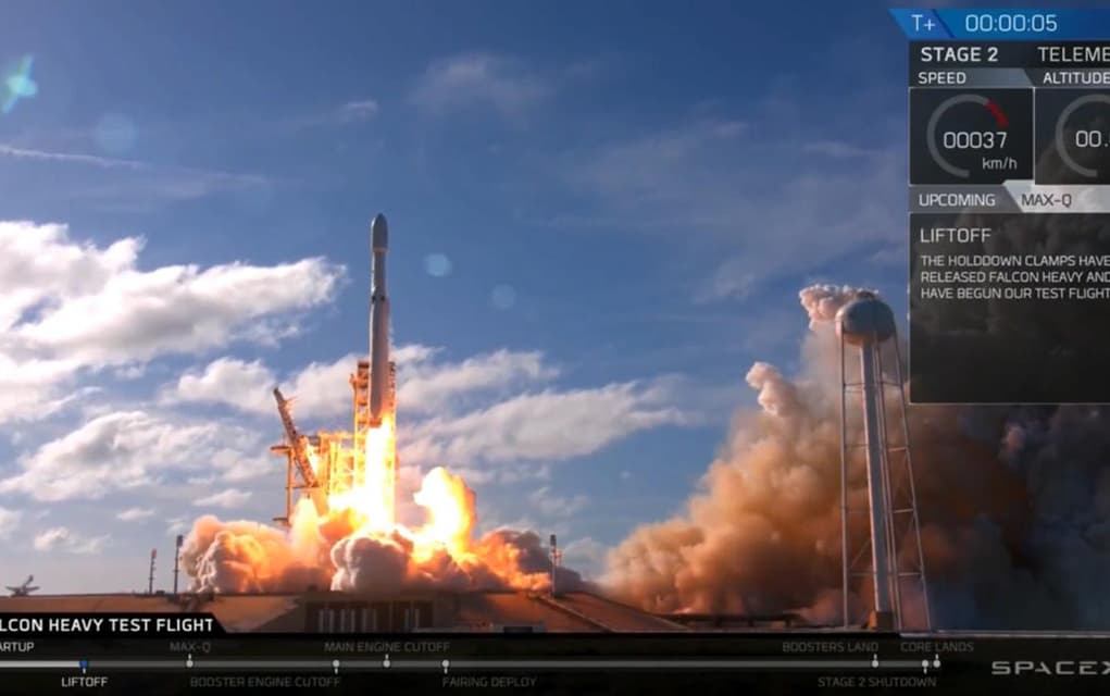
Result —
[[21, 471], [0, 481], [0, 493], [43, 502], [98, 500], [157, 484], [171, 472], [233, 473], [264, 450], [258, 432], [223, 422], [111, 412], [20, 457]]

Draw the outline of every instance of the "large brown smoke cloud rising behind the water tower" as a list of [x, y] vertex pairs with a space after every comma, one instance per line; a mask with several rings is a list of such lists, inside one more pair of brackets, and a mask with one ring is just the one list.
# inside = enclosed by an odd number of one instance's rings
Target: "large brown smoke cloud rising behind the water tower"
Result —
[[[735, 416], [684, 514], [635, 529], [610, 553], [612, 592], [656, 612], [839, 621], [831, 320], [852, 294], [801, 291], [811, 329], [801, 373], [748, 371], [759, 410]], [[934, 626], [1110, 627], [1100, 579], [1110, 571], [1106, 408], [911, 406], [909, 428]], [[866, 488], [852, 486], [849, 501], [866, 501]]]

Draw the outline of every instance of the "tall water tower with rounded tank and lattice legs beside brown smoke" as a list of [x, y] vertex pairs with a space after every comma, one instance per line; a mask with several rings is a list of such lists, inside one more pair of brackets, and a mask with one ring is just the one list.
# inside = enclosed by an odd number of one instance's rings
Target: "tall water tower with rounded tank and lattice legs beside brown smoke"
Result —
[[[931, 628], [895, 315], [857, 292], [836, 316], [840, 344], [844, 625]], [[859, 380], [846, 366], [859, 353]], [[896, 401], [888, 410], [888, 397]], [[889, 420], [896, 421], [891, 426]], [[867, 500], [854, 496], [866, 477]], [[852, 613], [851, 595], [865, 607]]]

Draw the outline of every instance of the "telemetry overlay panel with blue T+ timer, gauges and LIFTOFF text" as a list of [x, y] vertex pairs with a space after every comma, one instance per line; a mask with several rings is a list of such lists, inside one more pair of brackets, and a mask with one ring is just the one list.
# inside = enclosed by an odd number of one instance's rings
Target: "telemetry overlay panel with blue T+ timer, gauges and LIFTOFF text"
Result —
[[1110, 10], [892, 10], [909, 397], [1110, 403]]

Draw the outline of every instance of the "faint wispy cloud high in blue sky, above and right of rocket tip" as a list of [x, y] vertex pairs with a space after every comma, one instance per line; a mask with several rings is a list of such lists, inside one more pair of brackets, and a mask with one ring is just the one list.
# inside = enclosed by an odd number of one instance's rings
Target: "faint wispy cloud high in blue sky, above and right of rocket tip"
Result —
[[477, 104], [516, 117], [551, 90], [546, 80], [517, 61], [490, 53], [465, 53], [428, 65], [412, 92], [412, 101], [437, 114]]

